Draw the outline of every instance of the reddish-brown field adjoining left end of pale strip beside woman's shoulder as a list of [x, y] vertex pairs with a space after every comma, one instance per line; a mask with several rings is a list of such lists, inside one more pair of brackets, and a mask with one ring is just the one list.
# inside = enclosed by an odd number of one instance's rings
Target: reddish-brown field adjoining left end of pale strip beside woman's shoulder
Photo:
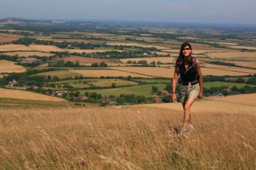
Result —
[[79, 61], [80, 63], [100, 63], [100, 62], [105, 62], [105, 63], [118, 63], [119, 61], [117, 59], [111, 59], [111, 58], [89, 58], [89, 57], [80, 57], [80, 56], [70, 56], [68, 58], [64, 58], [64, 61]]

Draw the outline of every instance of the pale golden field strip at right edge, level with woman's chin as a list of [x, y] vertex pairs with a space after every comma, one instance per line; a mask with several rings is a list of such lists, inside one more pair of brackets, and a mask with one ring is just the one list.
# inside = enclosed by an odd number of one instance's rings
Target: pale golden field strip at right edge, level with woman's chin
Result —
[[256, 52], [225, 52], [225, 53], [208, 53], [209, 57], [213, 58], [255, 58]]

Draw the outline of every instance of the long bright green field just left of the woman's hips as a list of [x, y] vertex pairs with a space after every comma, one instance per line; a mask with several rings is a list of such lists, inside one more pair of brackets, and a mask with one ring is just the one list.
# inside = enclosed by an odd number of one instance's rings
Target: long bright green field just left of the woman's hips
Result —
[[[163, 90], [166, 84], [156, 84], [158, 90]], [[103, 90], [80, 90], [80, 93], [83, 94], [86, 91], [90, 93], [96, 92], [102, 94], [102, 96], [119, 96], [121, 94], [135, 94], [136, 96], [146, 96], [151, 97], [152, 85], [136, 85], [128, 88], [111, 88]]]

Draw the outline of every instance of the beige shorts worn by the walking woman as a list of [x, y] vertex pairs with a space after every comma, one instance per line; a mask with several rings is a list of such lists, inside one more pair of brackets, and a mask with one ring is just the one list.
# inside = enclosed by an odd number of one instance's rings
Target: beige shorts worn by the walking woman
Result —
[[191, 83], [189, 82], [189, 85], [179, 85], [179, 95], [180, 95], [182, 104], [185, 104], [189, 97], [193, 97], [197, 99], [199, 92], [200, 92], [199, 83], [195, 85], [191, 85]]

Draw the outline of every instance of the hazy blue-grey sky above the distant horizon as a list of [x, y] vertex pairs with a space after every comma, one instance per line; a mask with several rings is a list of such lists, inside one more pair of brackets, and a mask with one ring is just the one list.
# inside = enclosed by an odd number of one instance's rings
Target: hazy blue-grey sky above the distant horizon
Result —
[[0, 0], [0, 18], [256, 24], [256, 0]]

